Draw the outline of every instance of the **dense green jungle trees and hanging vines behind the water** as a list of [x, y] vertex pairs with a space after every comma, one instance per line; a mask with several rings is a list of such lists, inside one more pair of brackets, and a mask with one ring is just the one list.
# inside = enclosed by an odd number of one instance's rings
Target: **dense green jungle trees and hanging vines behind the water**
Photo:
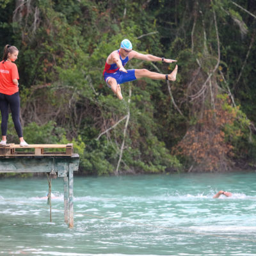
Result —
[[[255, 168], [255, 0], [1, 0], [0, 47], [19, 49], [28, 143], [74, 143], [79, 173]], [[108, 54], [177, 60], [177, 81], [104, 83]], [[132, 60], [168, 74], [175, 63]], [[8, 141], [18, 138], [12, 118]]]

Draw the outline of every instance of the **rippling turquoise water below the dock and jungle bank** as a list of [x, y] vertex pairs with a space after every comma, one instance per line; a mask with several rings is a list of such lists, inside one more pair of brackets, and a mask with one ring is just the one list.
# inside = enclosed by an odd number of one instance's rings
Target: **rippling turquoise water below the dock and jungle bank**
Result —
[[[0, 180], [0, 255], [256, 255], [256, 173]], [[213, 199], [218, 190], [233, 196]]]

